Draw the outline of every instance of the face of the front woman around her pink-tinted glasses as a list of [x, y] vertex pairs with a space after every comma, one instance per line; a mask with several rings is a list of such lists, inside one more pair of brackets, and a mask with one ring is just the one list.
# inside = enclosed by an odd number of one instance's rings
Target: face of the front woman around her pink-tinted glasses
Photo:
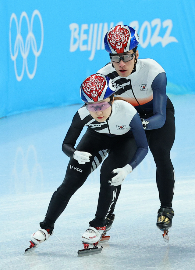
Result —
[[[97, 102], [93, 102], [93, 103], [87, 103], [87, 104], [101, 104], [103, 102], [110, 102], [110, 97], [107, 97], [106, 99], [104, 100], [101, 100], [101, 101], [97, 101]], [[114, 97], [113, 97], [113, 100], [112, 100], [112, 103], [114, 102]], [[90, 115], [98, 122], [104, 122], [106, 119], [108, 119], [108, 117], [110, 116], [111, 114], [111, 111], [112, 111], [112, 106], [108, 107], [107, 109], [105, 110], [97, 110], [97, 111], [89, 111]]]

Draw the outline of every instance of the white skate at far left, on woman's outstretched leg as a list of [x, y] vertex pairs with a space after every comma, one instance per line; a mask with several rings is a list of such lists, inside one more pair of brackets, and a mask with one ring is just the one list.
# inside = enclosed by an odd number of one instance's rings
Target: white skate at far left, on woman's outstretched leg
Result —
[[[49, 232], [48, 232], [49, 231]], [[48, 240], [48, 238], [53, 234], [53, 231], [45, 229], [39, 229], [37, 232], [30, 235], [30, 247], [24, 251], [24, 254], [34, 251], [39, 244]]]

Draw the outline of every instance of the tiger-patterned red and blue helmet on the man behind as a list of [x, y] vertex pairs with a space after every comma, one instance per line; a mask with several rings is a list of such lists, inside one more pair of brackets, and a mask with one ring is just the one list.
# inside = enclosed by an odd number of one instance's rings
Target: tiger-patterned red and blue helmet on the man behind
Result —
[[139, 44], [137, 32], [128, 25], [112, 27], [105, 35], [104, 44], [108, 53], [125, 53]]

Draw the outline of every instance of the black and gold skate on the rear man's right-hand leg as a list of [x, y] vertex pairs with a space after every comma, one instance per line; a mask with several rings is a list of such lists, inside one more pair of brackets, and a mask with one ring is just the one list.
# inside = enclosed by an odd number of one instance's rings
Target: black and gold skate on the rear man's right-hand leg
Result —
[[163, 231], [162, 234], [164, 237], [164, 241], [168, 243], [168, 229], [172, 226], [172, 218], [174, 216], [174, 211], [172, 208], [161, 207], [158, 209], [158, 217], [156, 226]]

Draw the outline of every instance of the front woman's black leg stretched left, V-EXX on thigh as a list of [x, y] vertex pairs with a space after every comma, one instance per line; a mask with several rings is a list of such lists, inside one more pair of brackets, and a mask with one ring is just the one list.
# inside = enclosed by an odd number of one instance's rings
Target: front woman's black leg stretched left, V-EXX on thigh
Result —
[[51, 198], [46, 217], [40, 223], [41, 228], [53, 230], [56, 219], [66, 208], [69, 199], [83, 185], [90, 174], [94, 156], [101, 149], [107, 149], [105, 146], [108, 144], [107, 140], [110, 140], [108, 136], [105, 137], [105, 135], [87, 130], [76, 149], [91, 153], [90, 162], [82, 165], [77, 160], [70, 159], [64, 181]]

